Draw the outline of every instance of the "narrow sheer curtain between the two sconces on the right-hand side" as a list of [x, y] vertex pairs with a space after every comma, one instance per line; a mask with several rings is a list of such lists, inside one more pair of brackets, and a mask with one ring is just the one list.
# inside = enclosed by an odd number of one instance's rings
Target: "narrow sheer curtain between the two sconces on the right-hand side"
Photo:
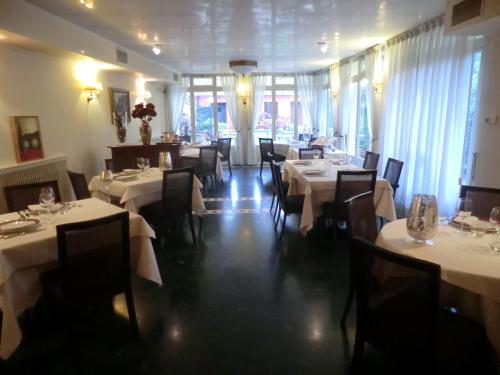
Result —
[[356, 117], [353, 118], [353, 114], [356, 113], [357, 102], [353, 103], [352, 99], [356, 96], [357, 100], [357, 90], [351, 86], [351, 64], [343, 64], [339, 68], [338, 131], [344, 136], [346, 151], [353, 155], [356, 142]]

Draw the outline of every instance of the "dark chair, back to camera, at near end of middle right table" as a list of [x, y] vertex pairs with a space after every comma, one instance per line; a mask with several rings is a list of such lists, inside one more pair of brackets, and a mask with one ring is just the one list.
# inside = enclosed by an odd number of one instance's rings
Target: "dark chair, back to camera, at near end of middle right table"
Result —
[[377, 171], [338, 171], [335, 201], [323, 203], [323, 214], [334, 223], [347, 221], [346, 201], [357, 195], [375, 191]]

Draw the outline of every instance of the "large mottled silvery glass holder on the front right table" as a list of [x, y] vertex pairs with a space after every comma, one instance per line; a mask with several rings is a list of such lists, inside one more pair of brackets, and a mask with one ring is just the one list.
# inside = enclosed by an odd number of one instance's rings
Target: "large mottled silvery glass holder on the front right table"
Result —
[[432, 246], [437, 233], [438, 211], [434, 195], [415, 194], [411, 201], [406, 230], [416, 243]]

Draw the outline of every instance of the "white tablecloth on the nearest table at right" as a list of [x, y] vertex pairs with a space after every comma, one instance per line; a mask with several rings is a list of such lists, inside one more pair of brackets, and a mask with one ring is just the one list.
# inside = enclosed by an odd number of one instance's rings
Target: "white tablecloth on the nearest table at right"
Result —
[[434, 246], [421, 246], [407, 241], [406, 219], [401, 219], [382, 227], [377, 245], [439, 264], [441, 279], [458, 287], [443, 296], [446, 304], [484, 324], [500, 359], [500, 256], [488, 246], [493, 235], [474, 238], [455, 231], [449, 225], [439, 226]]

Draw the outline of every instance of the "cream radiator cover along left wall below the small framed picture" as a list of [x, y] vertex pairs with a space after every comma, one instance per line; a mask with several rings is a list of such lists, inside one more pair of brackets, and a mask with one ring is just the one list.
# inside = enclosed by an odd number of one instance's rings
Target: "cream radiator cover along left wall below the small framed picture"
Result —
[[5, 186], [23, 185], [57, 180], [63, 201], [71, 200], [71, 185], [66, 165], [66, 156], [56, 156], [41, 160], [0, 167], [0, 213], [6, 213]]

